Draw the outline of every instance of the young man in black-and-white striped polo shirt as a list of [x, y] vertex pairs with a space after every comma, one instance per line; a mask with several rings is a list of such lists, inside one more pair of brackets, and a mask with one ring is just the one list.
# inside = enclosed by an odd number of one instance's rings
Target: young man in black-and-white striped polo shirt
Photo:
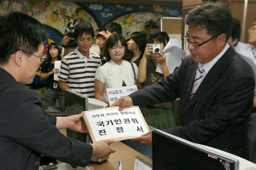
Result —
[[63, 57], [59, 73], [59, 87], [70, 89], [89, 98], [95, 98], [94, 76], [101, 59], [98, 54], [90, 52], [94, 30], [89, 22], [75, 26], [74, 38], [77, 48]]

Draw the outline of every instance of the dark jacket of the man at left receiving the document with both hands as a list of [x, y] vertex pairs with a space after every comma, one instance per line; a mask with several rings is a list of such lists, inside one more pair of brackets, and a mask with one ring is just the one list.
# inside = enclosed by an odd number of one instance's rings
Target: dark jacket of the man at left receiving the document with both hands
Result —
[[92, 146], [65, 137], [36, 91], [0, 68], [0, 170], [38, 170], [41, 154], [85, 167]]

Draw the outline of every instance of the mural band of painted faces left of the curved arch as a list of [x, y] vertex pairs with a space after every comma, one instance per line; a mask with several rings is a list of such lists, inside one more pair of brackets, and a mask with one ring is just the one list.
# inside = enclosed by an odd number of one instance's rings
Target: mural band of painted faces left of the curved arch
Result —
[[[1, 0], [0, 14], [21, 11], [63, 33], [66, 23], [76, 18], [86, 18], [95, 23], [89, 13], [81, 9], [72, 2]], [[93, 26], [98, 29], [97, 24]]]

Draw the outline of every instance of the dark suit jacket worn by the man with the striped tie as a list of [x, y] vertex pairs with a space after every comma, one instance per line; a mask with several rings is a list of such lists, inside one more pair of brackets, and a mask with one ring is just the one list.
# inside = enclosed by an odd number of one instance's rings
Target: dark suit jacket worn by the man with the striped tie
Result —
[[190, 100], [197, 66], [187, 56], [173, 75], [132, 93], [133, 104], [144, 107], [181, 98], [179, 126], [166, 132], [247, 159], [247, 123], [254, 89], [251, 67], [230, 47]]

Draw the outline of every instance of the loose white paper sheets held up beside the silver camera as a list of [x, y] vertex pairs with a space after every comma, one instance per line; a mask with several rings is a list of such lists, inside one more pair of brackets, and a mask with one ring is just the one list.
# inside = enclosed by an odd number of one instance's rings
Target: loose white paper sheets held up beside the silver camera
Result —
[[[163, 53], [164, 56], [167, 55], [165, 60], [170, 73], [172, 73], [176, 67], [181, 65], [182, 58], [186, 56], [186, 53], [182, 50], [182, 41], [175, 38], [170, 39], [165, 46]], [[157, 65], [156, 72], [163, 74], [160, 64]]]

